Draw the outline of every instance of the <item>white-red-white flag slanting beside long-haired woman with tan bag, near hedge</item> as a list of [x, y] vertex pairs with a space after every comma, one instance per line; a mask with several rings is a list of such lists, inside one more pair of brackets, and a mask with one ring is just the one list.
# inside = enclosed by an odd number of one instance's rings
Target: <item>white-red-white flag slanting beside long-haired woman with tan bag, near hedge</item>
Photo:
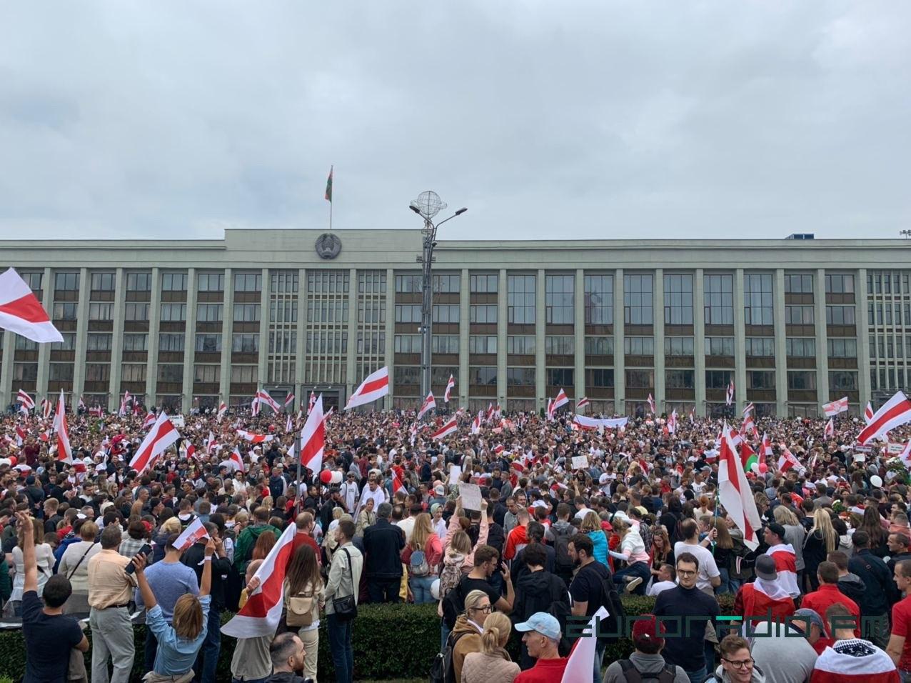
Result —
[[234, 638], [271, 636], [275, 633], [281, 620], [285, 570], [291, 560], [295, 533], [297, 527], [289, 524], [256, 574], [253, 574], [260, 580], [260, 585], [241, 607], [241, 611], [221, 626], [221, 633]]

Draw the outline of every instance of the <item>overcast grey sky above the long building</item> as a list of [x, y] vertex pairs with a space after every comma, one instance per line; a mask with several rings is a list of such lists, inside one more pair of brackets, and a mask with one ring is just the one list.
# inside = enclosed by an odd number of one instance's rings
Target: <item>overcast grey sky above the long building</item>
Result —
[[[5, 2], [0, 237], [897, 237], [911, 3]], [[448, 214], [446, 214], [448, 215]], [[441, 214], [442, 216], [442, 214]]]

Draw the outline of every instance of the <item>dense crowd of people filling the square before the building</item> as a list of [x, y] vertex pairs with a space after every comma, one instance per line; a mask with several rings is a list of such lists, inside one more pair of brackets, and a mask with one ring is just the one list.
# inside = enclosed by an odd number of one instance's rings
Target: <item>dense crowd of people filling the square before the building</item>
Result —
[[[315, 682], [322, 620], [334, 678], [353, 681], [356, 605], [398, 602], [436, 605], [445, 681], [559, 683], [569, 626], [604, 608], [596, 683], [911, 681], [911, 497], [885, 442], [855, 443], [863, 420], [730, 423], [763, 456], [744, 465], [752, 548], [718, 501], [719, 419], [579, 429], [565, 412], [492, 413], [433, 440], [413, 413], [333, 414], [323, 470], [298, 486], [300, 416], [188, 415], [137, 472], [144, 418], [70, 416], [72, 463], [49, 419], [0, 419], [0, 596], [22, 619], [26, 681], [125, 683], [136, 621], [146, 680], [215, 681], [221, 613], [261, 601], [275, 562], [281, 619], [236, 640], [234, 681]], [[290, 552], [273, 552], [290, 529]], [[654, 606], [624, 620], [621, 595]], [[716, 619], [722, 604], [742, 626]], [[628, 659], [604, 661], [608, 626]]]

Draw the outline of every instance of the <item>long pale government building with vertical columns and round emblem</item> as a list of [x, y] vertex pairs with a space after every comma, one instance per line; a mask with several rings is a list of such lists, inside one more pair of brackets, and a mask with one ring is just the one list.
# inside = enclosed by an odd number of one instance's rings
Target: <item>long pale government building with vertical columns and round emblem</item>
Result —
[[[227, 230], [221, 240], [18, 240], [0, 262], [64, 336], [0, 335], [19, 389], [116, 409], [344, 405], [388, 366], [386, 408], [420, 397], [420, 230]], [[807, 416], [911, 386], [911, 243], [901, 240], [445, 241], [435, 249], [437, 404], [589, 414]]]

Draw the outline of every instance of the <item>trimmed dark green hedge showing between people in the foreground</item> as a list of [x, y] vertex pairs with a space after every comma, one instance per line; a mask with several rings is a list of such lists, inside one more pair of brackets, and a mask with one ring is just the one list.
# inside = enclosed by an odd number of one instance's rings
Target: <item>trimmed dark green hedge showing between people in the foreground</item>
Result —
[[[722, 614], [731, 614], [733, 596], [724, 595], [719, 601]], [[654, 598], [624, 595], [623, 604], [630, 615], [647, 614], [655, 605]], [[222, 615], [222, 624], [230, 619], [230, 613]], [[134, 626], [136, 658], [133, 664], [133, 678], [139, 680], [142, 674], [146, 627]], [[87, 629], [91, 640], [91, 632]], [[510, 638], [508, 649], [518, 659], [518, 635]], [[431, 662], [440, 647], [440, 619], [436, 616], [436, 605], [359, 605], [354, 621], [354, 678], [425, 678]], [[230, 680], [230, 659], [234, 652], [234, 638], [221, 636], [218, 679]], [[609, 645], [604, 656], [605, 665], [616, 659], [629, 657], [632, 644], [628, 639]], [[320, 626], [320, 680], [334, 678], [333, 659], [329, 651], [329, 636], [326, 622]], [[86, 668], [91, 672], [91, 650], [86, 654]], [[22, 631], [0, 631], [0, 676], [19, 680], [26, 670], [26, 649]]]

